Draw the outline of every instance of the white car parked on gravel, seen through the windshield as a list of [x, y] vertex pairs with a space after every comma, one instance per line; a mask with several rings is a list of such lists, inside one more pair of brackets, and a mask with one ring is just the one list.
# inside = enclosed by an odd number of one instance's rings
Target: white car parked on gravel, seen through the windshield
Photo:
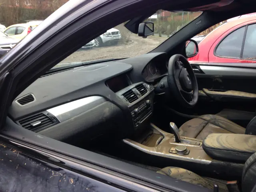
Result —
[[110, 30], [107, 30], [106, 33], [102, 34], [101, 36], [98, 36], [95, 39], [95, 46], [100, 47], [105, 43], [117, 44], [120, 38], [120, 31], [115, 28], [112, 28]]

